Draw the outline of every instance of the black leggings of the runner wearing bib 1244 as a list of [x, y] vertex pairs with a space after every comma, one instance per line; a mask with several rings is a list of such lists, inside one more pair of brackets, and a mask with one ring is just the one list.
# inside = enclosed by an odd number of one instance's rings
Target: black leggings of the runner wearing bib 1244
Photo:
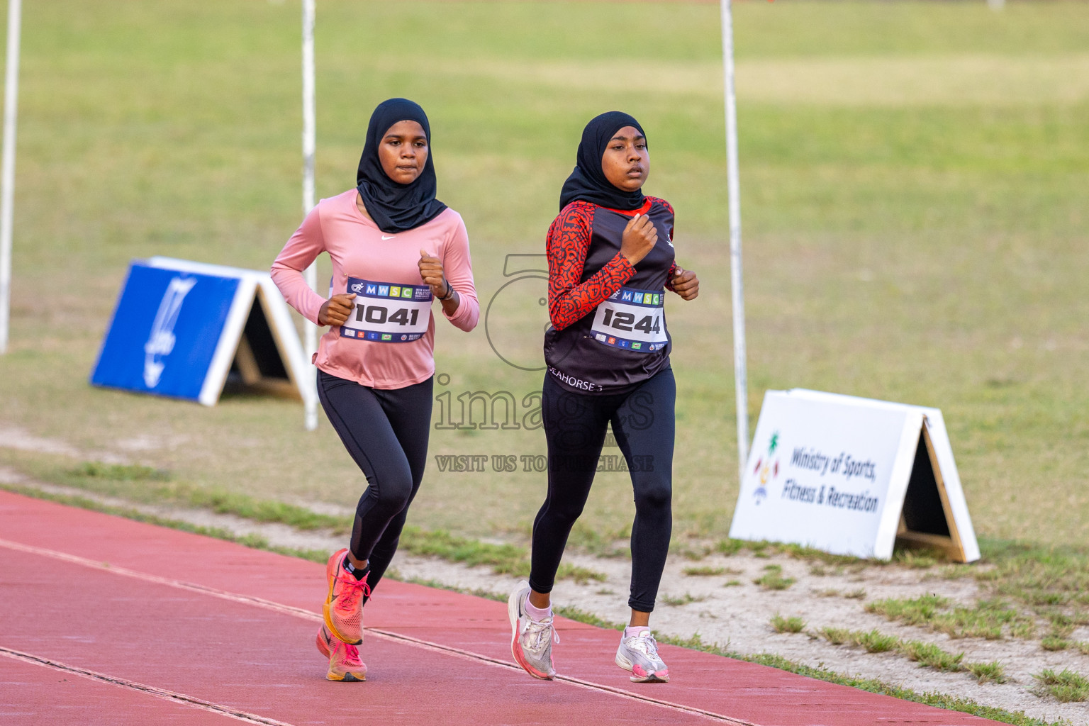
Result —
[[672, 369], [631, 393], [589, 395], [564, 389], [544, 374], [541, 413], [548, 439], [548, 496], [534, 521], [529, 586], [551, 592], [567, 536], [590, 494], [605, 427], [627, 460], [635, 489], [632, 526], [632, 594], [627, 604], [654, 610], [673, 528], [673, 434], [676, 383]]

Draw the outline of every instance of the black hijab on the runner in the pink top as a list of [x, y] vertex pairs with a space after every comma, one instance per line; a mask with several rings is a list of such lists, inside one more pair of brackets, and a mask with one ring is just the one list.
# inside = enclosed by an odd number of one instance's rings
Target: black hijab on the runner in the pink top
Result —
[[[427, 162], [424, 171], [408, 184], [397, 184], [382, 171], [378, 146], [390, 126], [400, 121], [415, 121], [427, 136]], [[446, 205], [435, 198], [435, 162], [431, 153], [431, 125], [418, 103], [404, 98], [382, 101], [370, 114], [367, 140], [359, 157], [355, 183], [367, 213], [382, 232], [404, 232], [430, 222]]]

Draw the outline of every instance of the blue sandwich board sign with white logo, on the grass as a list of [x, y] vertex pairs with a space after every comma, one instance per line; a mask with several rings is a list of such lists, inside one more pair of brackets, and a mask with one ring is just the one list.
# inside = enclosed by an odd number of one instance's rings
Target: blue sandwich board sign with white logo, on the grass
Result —
[[134, 260], [90, 382], [215, 405], [230, 376], [306, 401], [313, 373], [267, 272]]

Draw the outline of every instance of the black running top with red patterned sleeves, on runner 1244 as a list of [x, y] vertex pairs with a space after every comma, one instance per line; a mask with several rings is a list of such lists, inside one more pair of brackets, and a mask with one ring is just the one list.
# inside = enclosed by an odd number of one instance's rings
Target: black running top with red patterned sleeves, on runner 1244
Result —
[[[650, 218], [658, 243], [633, 267], [620, 247], [635, 214]], [[676, 263], [668, 201], [646, 197], [633, 210], [572, 201], [549, 227], [546, 246], [550, 374], [574, 391], [624, 393], [670, 365], [662, 306]]]

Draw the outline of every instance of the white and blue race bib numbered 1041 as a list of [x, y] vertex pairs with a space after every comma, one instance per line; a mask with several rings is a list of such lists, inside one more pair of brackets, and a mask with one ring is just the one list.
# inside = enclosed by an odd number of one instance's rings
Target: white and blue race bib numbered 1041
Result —
[[355, 293], [355, 307], [341, 325], [342, 337], [407, 343], [419, 340], [431, 322], [431, 288], [427, 285], [348, 278], [347, 292]]

